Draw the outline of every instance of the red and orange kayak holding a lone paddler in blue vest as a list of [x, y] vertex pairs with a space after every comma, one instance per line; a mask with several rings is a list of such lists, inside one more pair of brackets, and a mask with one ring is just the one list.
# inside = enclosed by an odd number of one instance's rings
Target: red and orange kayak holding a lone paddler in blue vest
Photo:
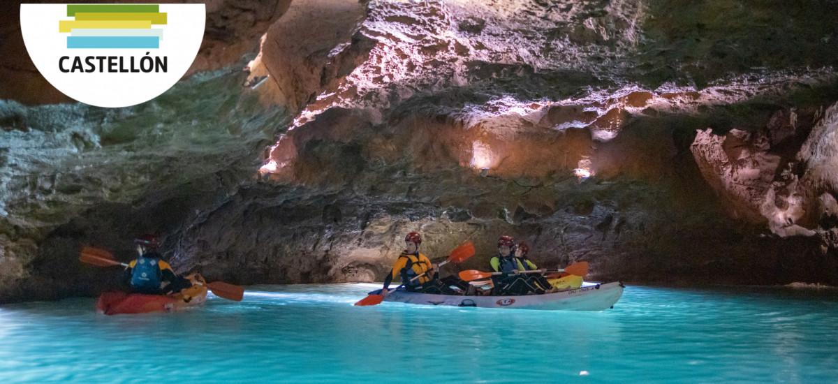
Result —
[[204, 304], [207, 288], [195, 284], [172, 295], [106, 292], [96, 303], [96, 311], [103, 314], [147, 314], [172, 312]]

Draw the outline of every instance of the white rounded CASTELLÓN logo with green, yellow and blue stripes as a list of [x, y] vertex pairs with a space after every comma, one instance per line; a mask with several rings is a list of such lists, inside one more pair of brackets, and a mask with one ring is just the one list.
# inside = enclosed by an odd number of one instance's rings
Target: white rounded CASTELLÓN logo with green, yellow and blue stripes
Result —
[[29, 57], [50, 84], [93, 106], [149, 101], [189, 70], [204, 4], [22, 4]]

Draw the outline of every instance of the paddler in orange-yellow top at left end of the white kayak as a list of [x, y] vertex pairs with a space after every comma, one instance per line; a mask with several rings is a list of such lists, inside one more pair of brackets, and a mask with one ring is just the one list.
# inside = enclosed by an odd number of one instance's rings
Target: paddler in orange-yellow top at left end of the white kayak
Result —
[[[419, 253], [419, 245], [422, 244], [422, 236], [416, 232], [408, 233], [405, 236], [405, 251], [396, 259], [393, 269], [384, 279], [384, 288], [381, 294], [387, 295], [388, 288], [393, 279], [401, 277], [401, 283], [409, 292], [436, 293], [436, 294], [458, 294], [452, 288], [439, 281], [439, 273], [436, 264], [431, 264], [425, 255]], [[418, 278], [416, 278], [418, 276]]]

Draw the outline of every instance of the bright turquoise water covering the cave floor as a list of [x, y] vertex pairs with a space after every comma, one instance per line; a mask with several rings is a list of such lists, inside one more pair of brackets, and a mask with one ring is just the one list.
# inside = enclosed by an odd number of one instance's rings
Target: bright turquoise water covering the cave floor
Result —
[[0, 307], [0, 382], [838, 381], [838, 293], [628, 286], [614, 309], [352, 304], [367, 284], [256, 286], [173, 314]]

